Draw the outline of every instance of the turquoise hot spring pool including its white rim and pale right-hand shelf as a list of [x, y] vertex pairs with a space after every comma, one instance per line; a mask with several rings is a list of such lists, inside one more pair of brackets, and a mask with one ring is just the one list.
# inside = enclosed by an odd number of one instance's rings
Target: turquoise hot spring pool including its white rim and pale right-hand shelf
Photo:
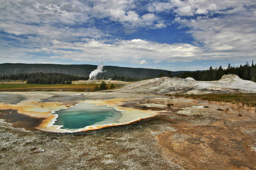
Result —
[[49, 126], [57, 126], [64, 131], [78, 131], [79, 129], [98, 129], [99, 126], [114, 126], [134, 122], [149, 117], [147, 113], [137, 110], [118, 111], [113, 107], [95, 106], [78, 103], [67, 109], [53, 111], [54, 120]]

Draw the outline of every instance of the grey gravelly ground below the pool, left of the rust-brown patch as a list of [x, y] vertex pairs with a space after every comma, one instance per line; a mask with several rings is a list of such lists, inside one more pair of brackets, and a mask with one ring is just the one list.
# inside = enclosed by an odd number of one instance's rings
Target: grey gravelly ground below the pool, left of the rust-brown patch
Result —
[[[13, 128], [0, 121], [0, 169], [180, 169], [164, 159], [159, 118], [77, 133]], [[155, 123], [151, 123], [155, 122]]]

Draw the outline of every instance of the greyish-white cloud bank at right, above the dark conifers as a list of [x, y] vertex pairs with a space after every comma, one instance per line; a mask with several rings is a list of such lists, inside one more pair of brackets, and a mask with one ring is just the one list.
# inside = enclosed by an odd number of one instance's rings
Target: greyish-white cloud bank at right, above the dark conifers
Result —
[[242, 56], [253, 57], [256, 53], [256, 19], [252, 11], [240, 11], [233, 15], [218, 18], [198, 17], [175, 21], [188, 26], [197, 41], [204, 43], [209, 57], [242, 59]]

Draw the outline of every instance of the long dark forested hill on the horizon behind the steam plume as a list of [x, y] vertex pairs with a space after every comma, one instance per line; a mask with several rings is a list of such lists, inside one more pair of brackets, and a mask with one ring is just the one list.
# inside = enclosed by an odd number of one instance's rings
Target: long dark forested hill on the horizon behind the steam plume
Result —
[[[24, 63], [3, 63], [0, 64], [0, 75], [16, 75], [20, 73], [64, 73], [79, 77], [89, 77], [92, 70], [95, 70], [97, 65], [63, 65], [63, 64], [24, 64]], [[157, 69], [129, 68], [117, 66], [104, 66], [99, 77], [129, 77], [129, 78], [156, 78], [163, 73], [165, 76], [177, 75], [183, 71], [168, 71]], [[163, 75], [162, 74], [162, 75]]]

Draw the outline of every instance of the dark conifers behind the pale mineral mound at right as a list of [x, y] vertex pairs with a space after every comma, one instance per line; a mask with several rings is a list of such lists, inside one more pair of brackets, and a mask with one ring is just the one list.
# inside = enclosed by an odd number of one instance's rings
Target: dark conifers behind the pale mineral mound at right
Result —
[[[256, 82], [256, 64], [253, 64], [252, 60], [252, 65], [250, 65], [248, 62], [246, 62], [245, 65], [241, 64], [239, 67], [232, 67], [230, 64], [228, 64], [227, 69], [223, 69], [221, 65], [219, 68], [212, 68], [211, 66], [209, 70], [185, 71], [178, 75], [168, 75], [168, 77], [191, 77], [197, 81], [214, 81], [219, 80], [224, 74], [236, 74], [244, 80], [252, 80]], [[164, 74], [160, 73], [158, 77], [164, 77]]]

